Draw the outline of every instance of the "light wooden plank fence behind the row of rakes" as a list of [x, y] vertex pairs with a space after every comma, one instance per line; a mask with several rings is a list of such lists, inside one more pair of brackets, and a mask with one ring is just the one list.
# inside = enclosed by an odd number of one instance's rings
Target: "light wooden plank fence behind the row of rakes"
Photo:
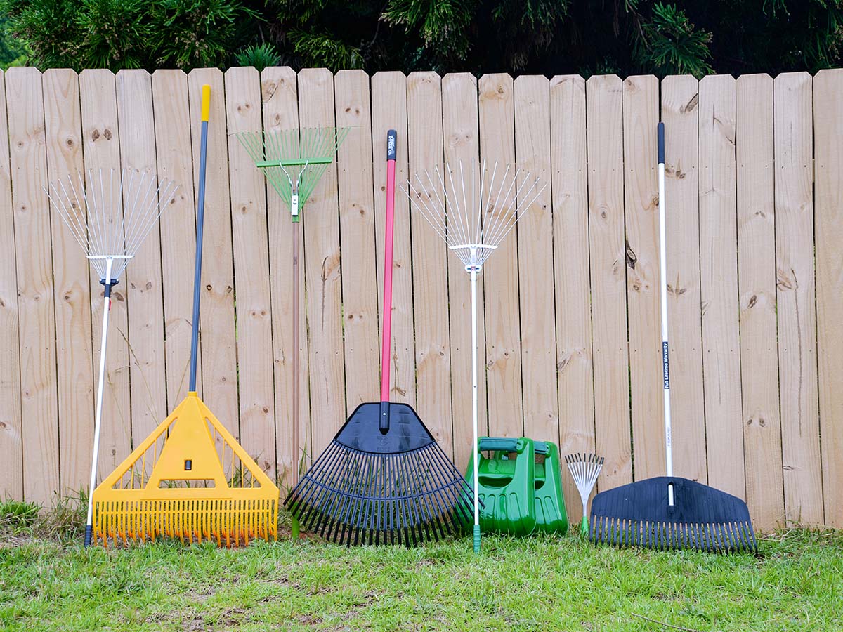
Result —
[[[212, 85], [201, 395], [271, 475], [291, 469], [288, 211], [233, 136], [354, 126], [303, 223], [302, 437], [379, 393], [385, 135], [398, 177], [518, 162], [550, 183], [481, 277], [482, 431], [663, 473], [656, 123], [667, 126], [676, 473], [760, 528], [843, 527], [843, 71], [576, 76], [272, 67], [12, 68], [0, 81], [0, 496], [86, 485], [101, 287], [44, 186], [153, 169], [180, 195], [115, 288], [101, 473], [186, 391], [200, 87]], [[469, 281], [399, 195], [393, 398], [464, 468]], [[634, 455], [634, 458], [633, 458]], [[566, 498], [579, 515], [566, 479]]]

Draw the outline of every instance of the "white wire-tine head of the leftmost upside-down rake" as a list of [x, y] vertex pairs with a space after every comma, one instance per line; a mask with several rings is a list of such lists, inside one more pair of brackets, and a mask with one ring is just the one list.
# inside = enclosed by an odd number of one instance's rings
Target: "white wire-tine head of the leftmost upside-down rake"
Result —
[[178, 190], [148, 170], [89, 169], [46, 193], [99, 278], [116, 281]]

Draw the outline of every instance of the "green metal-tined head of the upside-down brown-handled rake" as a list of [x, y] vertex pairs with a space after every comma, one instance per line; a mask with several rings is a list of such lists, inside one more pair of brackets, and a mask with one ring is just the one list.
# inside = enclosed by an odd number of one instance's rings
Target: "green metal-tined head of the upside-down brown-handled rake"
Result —
[[293, 130], [241, 131], [237, 140], [266, 180], [290, 205], [293, 221], [325, 169], [336, 158], [350, 127], [303, 127]]

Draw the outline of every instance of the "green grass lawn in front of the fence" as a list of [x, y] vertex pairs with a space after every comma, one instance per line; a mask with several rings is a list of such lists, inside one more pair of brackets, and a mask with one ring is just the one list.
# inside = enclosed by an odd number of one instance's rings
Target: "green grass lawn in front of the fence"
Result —
[[6, 513], [3, 527], [0, 503], [4, 630], [843, 629], [841, 533], [779, 533], [757, 556], [597, 548], [573, 534], [485, 537], [480, 556], [470, 538], [84, 550], [76, 512]]

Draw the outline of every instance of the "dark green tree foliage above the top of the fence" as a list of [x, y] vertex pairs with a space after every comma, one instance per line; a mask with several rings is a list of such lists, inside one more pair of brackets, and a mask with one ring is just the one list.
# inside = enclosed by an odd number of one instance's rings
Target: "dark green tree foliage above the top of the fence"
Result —
[[0, 11], [19, 40], [0, 63], [28, 51], [39, 67], [700, 77], [843, 61], [843, 0], [0, 0]]

